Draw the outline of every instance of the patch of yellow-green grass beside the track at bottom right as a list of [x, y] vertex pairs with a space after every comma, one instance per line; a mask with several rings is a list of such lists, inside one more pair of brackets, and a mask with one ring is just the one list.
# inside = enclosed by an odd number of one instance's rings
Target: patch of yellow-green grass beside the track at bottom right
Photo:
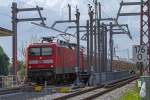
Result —
[[120, 100], [141, 100], [139, 91], [140, 89], [136, 85], [134, 89], [128, 90], [127, 92], [125, 92], [121, 96]]

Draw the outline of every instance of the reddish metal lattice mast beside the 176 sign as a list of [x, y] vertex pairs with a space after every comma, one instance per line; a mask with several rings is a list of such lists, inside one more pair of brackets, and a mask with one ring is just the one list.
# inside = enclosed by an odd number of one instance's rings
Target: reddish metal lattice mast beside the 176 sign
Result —
[[148, 46], [148, 69], [150, 72], [150, 0], [141, 0], [140, 44]]

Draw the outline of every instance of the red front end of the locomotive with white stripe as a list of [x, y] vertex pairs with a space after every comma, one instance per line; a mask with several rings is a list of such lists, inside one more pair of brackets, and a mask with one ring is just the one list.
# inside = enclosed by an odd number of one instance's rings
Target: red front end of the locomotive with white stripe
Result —
[[32, 44], [27, 48], [27, 76], [32, 82], [43, 82], [54, 75], [54, 45]]

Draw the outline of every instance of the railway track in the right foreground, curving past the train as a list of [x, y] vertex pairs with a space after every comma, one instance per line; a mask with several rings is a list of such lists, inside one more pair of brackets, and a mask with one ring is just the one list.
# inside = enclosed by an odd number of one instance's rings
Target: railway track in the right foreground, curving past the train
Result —
[[134, 80], [138, 79], [138, 76], [134, 75], [129, 78], [125, 78], [119, 81], [114, 81], [98, 87], [93, 87], [87, 90], [79, 91], [69, 95], [55, 98], [53, 100], [92, 100], [110, 91], [113, 91], [119, 87], [122, 87]]

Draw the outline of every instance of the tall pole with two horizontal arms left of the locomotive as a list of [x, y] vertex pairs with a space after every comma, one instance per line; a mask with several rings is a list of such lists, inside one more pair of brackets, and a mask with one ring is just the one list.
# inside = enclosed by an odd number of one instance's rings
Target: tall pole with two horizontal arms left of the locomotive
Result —
[[[26, 21], [42, 21], [42, 24], [44, 24], [44, 20], [46, 18], [43, 18], [40, 11], [43, 10], [41, 7], [36, 8], [17, 8], [17, 3], [12, 3], [12, 31], [14, 32], [14, 35], [12, 37], [12, 46], [13, 46], [13, 75], [17, 75], [17, 24], [18, 22], [26, 22]], [[25, 18], [25, 19], [19, 19], [17, 18], [17, 15], [19, 12], [25, 12], [25, 11], [38, 11], [40, 18]], [[17, 79], [17, 78], [16, 78]]]

